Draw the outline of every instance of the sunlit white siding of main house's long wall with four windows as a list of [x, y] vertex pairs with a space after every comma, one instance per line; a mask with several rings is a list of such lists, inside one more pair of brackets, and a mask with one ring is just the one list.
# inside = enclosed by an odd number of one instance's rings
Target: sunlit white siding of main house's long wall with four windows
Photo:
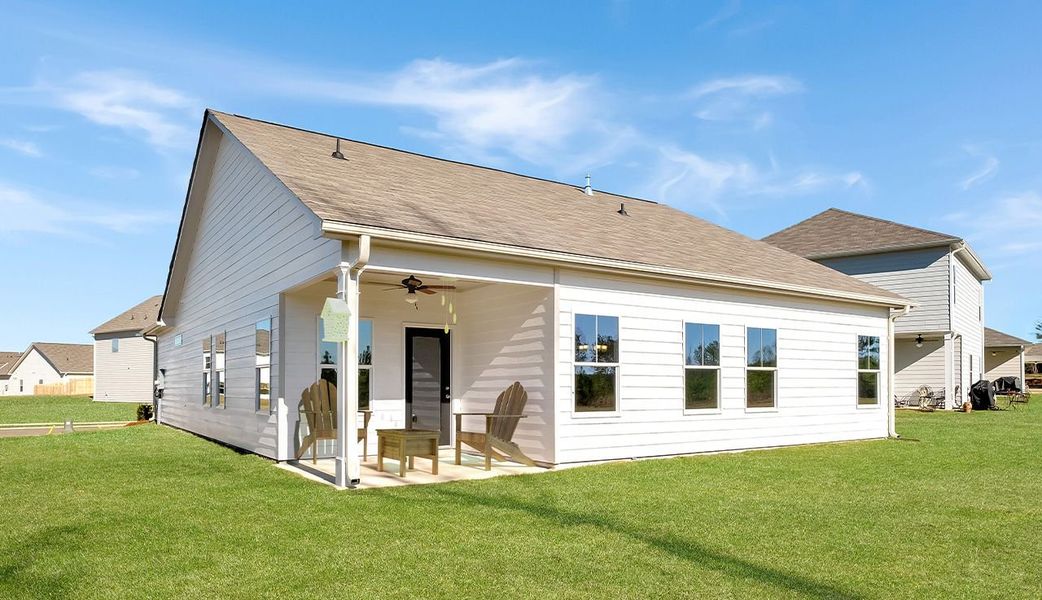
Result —
[[[559, 463], [882, 438], [886, 401], [857, 406], [858, 335], [877, 335], [886, 390], [887, 310], [561, 274]], [[574, 315], [619, 318], [619, 413], [573, 413]], [[720, 326], [721, 408], [685, 414], [685, 322]], [[778, 336], [778, 403], [745, 407], [745, 328]]]

